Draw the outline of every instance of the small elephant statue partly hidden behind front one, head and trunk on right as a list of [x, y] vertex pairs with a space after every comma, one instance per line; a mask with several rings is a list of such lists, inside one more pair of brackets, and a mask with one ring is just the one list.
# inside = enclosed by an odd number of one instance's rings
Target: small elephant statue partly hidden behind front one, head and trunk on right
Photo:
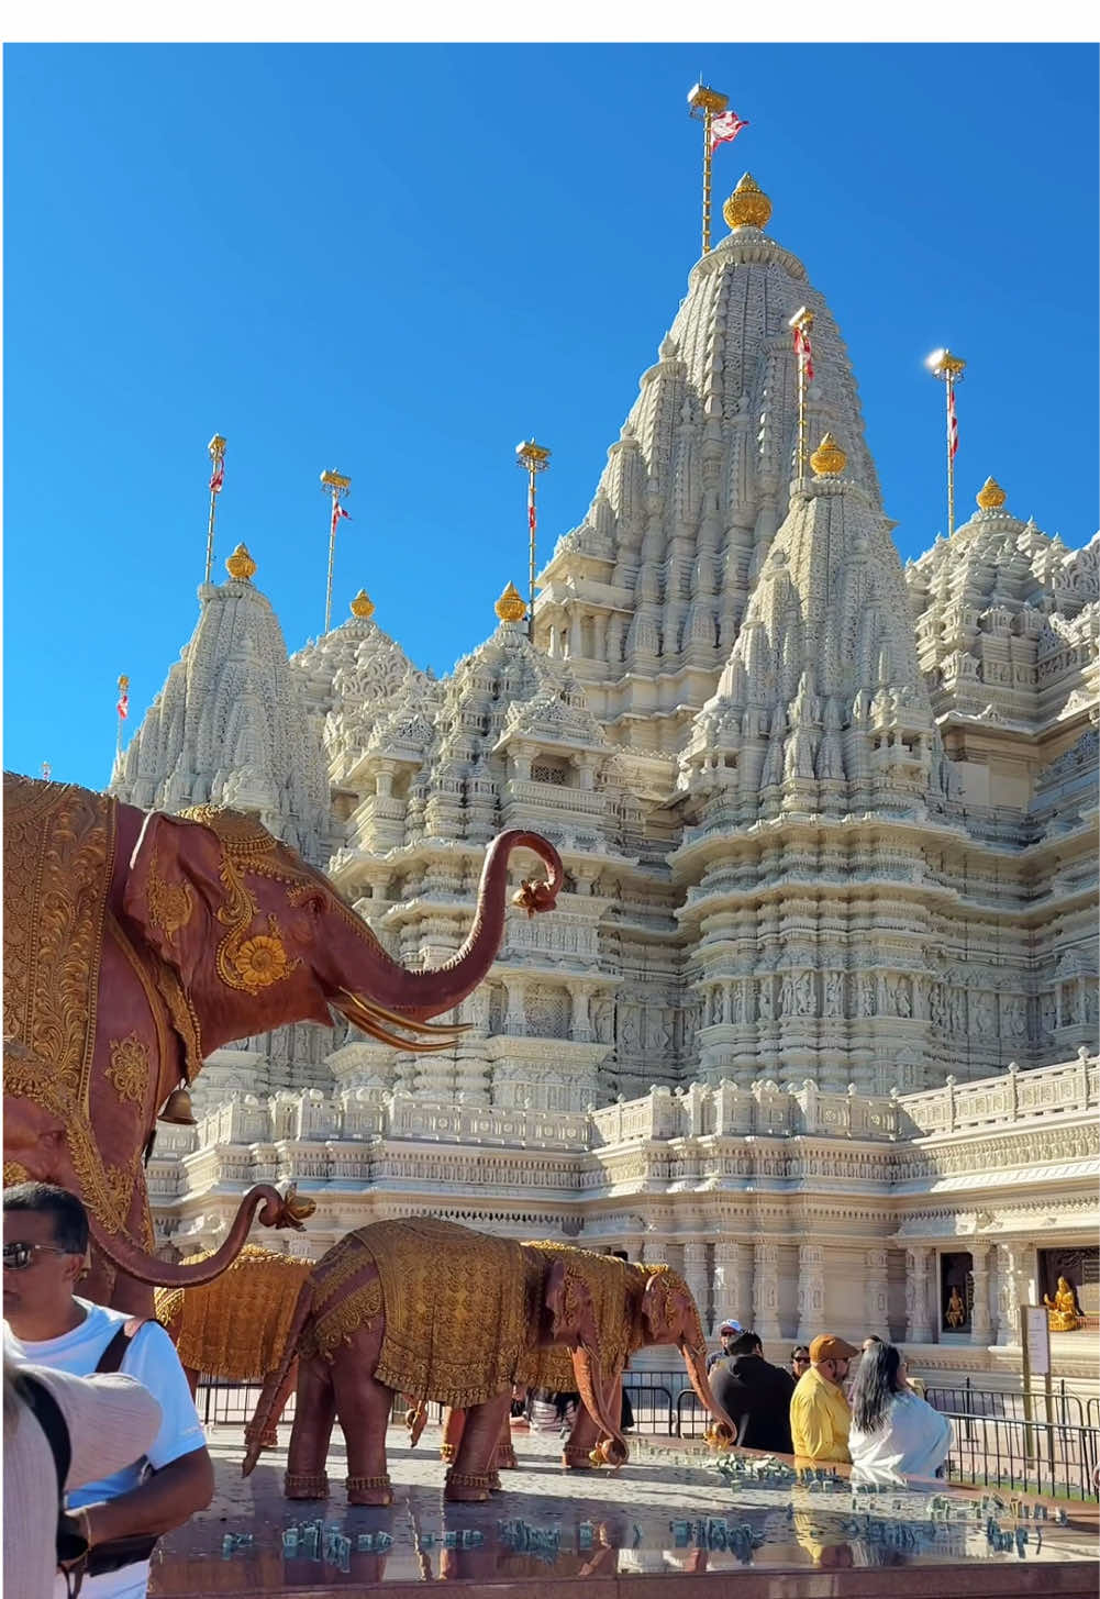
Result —
[[[707, 1407], [719, 1428], [718, 1436], [731, 1438], [737, 1428], [715, 1399], [707, 1378], [707, 1340], [699, 1310], [691, 1289], [670, 1266], [635, 1265], [617, 1255], [595, 1255], [571, 1244], [537, 1244], [550, 1255], [577, 1257], [577, 1270], [588, 1279], [588, 1289], [596, 1306], [598, 1337], [601, 1348], [600, 1385], [604, 1412], [614, 1418], [616, 1428], [622, 1414], [622, 1374], [630, 1356], [641, 1348], [672, 1343], [680, 1348], [688, 1370], [688, 1380], [695, 1398]], [[532, 1350], [520, 1367], [520, 1382], [528, 1388], [553, 1393], [576, 1391], [569, 1358], [564, 1350]], [[440, 1453], [449, 1460], [462, 1438], [462, 1417], [456, 1412], [443, 1417], [443, 1442]], [[587, 1402], [577, 1407], [577, 1417], [563, 1447], [561, 1465], [571, 1471], [588, 1471], [595, 1465], [622, 1465], [627, 1458], [622, 1436], [603, 1430], [598, 1415]], [[497, 1442], [497, 1465], [515, 1465], [510, 1428], [505, 1425]]]

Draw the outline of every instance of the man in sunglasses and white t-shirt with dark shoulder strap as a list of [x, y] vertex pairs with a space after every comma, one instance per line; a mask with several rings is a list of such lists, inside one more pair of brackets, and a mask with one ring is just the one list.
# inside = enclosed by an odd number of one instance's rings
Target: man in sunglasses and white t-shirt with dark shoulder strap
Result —
[[[122, 1311], [77, 1298], [88, 1254], [88, 1217], [75, 1194], [48, 1183], [19, 1183], [3, 1191], [5, 1353], [77, 1377], [91, 1375], [120, 1329]], [[203, 1428], [171, 1338], [155, 1322], [139, 1326], [122, 1356], [161, 1409], [160, 1431], [144, 1460], [69, 1497], [91, 1545], [90, 1570], [133, 1551], [118, 1540], [152, 1543], [181, 1527], [214, 1495], [214, 1468]], [[149, 1474], [145, 1468], [152, 1468]], [[104, 1546], [112, 1546], [104, 1553]], [[96, 1549], [101, 1551], [99, 1561]], [[82, 1599], [145, 1599], [149, 1559], [126, 1559], [114, 1570], [85, 1577]], [[56, 1594], [66, 1593], [58, 1578]]]

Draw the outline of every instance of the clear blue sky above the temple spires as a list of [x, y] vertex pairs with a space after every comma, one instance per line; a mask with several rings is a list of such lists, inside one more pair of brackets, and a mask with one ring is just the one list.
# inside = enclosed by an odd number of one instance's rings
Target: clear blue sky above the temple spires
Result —
[[5, 764], [102, 787], [192, 633], [205, 454], [288, 646], [320, 632], [323, 467], [350, 473], [334, 617], [365, 585], [448, 670], [585, 513], [699, 254], [702, 70], [751, 126], [769, 232], [847, 342], [903, 555], [986, 473], [1097, 526], [1092, 46], [8, 46]]

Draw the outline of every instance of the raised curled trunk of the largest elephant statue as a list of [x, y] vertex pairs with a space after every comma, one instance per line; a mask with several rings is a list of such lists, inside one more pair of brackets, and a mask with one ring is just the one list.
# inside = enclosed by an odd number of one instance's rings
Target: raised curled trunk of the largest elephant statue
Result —
[[[478, 905], [470, 934], [444, 966], [425, 972], [406, 972], [389, 958], [374, 935], [360, 923], [361, 956], [341, 961], [341, 979], [331, 1003], [349, 1022], [363, 1027], [379, 1012], [384, 1020], [424, 1022], [443, 1015], [472, 993], [496, 959], [504, 935], [505, 897], [508, 887], [508, 855], [529, 849], [547, 865], [547, 883], [524, 883], [513, 895], [515, 903], [532, 916], [553, 910], [564, 881], [558, 851], [539, 833], [512, 828], [489, 844], [478, 884]], [[357, 918], [358, 921], [358, 918]], [[341, 940], [345, 947], [345, 940]], [[337, 951], [337, 959], [341, 953]], [[385, 1012], [390, 1012], [387, 1017]], [[366, 1028], [373, 1031], [373, 1028]], [[451, 1031], [451, 1030], [448, 1030]], [[408, 1047], [401, 1044], [400, 1047]], [[432, 1047], [428, 1044], [428, 1047]], [[438, 1047], [438, 1046], [436, 1046]]]

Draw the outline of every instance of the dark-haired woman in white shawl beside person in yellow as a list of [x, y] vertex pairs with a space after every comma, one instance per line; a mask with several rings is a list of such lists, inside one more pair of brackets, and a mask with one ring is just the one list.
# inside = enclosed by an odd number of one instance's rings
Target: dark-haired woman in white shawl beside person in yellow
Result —
[[892, 1343], [865, 1351], [851, 1406], [847, 1447], [855, 1481], [934, 1477], [947, 1460], [951, 1423], [913, 1393], [902, 1351]]

